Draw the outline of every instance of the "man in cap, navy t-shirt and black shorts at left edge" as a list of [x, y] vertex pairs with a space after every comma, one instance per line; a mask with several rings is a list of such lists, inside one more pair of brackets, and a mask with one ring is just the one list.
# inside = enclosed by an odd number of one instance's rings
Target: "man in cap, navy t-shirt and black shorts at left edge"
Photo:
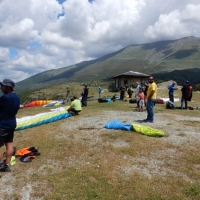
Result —
[[[10, 172], [10, 161], [14, 152], [13, 138], [17, 125], [16, 114], [20, 107], [20, 99], [14, 93], [15, 83], [10, 79], [0, 82], [3, 95], [0, 97], [0, 171]], [[6, 146], [6, 160], [2, 161], [2, 146]]]

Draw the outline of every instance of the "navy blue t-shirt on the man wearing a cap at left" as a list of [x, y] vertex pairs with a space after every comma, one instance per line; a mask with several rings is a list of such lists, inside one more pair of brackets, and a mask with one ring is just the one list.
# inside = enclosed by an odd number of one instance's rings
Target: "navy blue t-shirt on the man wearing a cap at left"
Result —
[[0, 128], [16, 128], [16, 114], [20, 107], [20, 99], [15, 93], [4, 94], [0, 97]]

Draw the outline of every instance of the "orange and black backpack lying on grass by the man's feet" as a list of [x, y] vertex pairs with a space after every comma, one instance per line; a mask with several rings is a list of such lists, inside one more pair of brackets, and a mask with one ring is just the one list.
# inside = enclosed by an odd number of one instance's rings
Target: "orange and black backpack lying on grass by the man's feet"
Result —
[[16, 152], [15, 156], [19, 157], [22, 162], [31, 162], [30, 159], [35, 158], [35, 156], [39, 156], [37, 148], [35, 147], [25, 147]]

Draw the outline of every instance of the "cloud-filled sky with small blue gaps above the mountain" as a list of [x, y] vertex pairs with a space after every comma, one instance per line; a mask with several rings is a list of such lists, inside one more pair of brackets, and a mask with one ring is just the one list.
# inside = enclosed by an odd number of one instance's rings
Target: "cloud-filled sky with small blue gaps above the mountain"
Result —
[[0, 0], [0, 81], [131, 44], [200, 37], [199, 0]]

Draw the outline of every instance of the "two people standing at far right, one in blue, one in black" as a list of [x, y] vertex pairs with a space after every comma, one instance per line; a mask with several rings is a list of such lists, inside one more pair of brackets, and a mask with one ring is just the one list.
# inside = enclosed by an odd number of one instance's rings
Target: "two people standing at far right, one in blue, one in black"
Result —
[[[176, 82], [173, 81], [172, 84], [168, 86], [169, 90], [169, 101], [174, 103], [174, 91], [177, 90]], [[181, 109], [188, 108], [188, 101], [192, 99], [192, 86], [189, 81], [185, 81], [183, 87], [181, 88]], [[183, 105], [185, 104], [185, 107]]]

